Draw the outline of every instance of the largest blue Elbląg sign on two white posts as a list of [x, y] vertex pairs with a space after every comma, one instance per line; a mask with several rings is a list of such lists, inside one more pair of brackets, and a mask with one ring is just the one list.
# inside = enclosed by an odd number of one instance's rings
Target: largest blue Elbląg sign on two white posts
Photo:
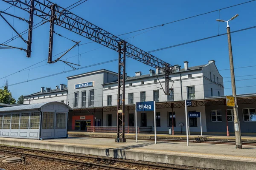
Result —
[[154, 135], [155, 135], [155, 144], [157, 144], [157, 126], [156, 126], [156, 107], [155, 102], [136, 102], [135, 108], [135, 125], [136, 125], [136, 142], [137, 142], [137, 112], [140, 111], [154, 111]]

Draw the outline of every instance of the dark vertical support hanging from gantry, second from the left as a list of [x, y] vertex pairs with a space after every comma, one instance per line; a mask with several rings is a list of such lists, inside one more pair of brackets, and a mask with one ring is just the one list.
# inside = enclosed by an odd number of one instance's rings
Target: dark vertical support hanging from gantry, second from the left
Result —
[[51, 6], [48, 63], [52, 63], [52, 45], [53, 45], [53, 35], [54, 35], [54, 20], [56, 20], [56, 17], [55, 17], [55, 4], [53, 4]]

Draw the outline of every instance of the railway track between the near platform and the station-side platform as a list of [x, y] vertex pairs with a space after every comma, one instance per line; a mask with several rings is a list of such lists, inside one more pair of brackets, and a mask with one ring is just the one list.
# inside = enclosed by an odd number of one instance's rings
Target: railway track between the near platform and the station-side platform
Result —
[[[69, 137], [81, 137], [81, 138], [102, 138], [102, 139], [115, 139], [112, 137], [93, 137], [93, 136], [77, 136], [77, 135], [69, 135]], [[135, 140], [134, 138], [127, 138], [130, 140]], [[143, 141], [154, 141], [154, 139], [138, 139], [138, 140], [143, 140]], [[157, 141], [161, 142], [186, 142], [185, 139], [157, 139]], [[200, 139], [189, 139], [189, 142], [192, 143], [206, 143], [206, 144], [236, 144], [236, 142], [227, 142], [227, 141], [205, 141], [205, 140], [200, 140]], [[242, 142], [242, 145], [251, 145], [251, 146], [256, 146], [256, 142]]]

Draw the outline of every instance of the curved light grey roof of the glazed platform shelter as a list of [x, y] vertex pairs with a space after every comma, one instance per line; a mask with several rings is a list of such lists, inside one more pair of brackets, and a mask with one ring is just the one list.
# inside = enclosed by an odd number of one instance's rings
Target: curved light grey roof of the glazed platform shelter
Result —
[[[25, 111], [25, 110], [33, 110], [33, 109], [39, 109], [43, 105], [46, 105], [51, 102], [44, 102], [44, 103], [36, 103], [36, 104], [29, 104], [29, 105], [18, 105], [18, 106], [10, 106], [10, 107], [4, 107], [0, 108], [0, 113], [1, 112], [9, 112], [9, 111]], [[61, 103], [61, 102], [58, 102]], [[63, 105], [66, 105], [65, 103], [61, 103]], [[68, 105], [67, 105], [68, 106]], [[68, 106], [69, 107], [69, 106]], [[70, 108], [70, 107], [69, 107]], [[70, 108], [71, 110], [71, 108]]]

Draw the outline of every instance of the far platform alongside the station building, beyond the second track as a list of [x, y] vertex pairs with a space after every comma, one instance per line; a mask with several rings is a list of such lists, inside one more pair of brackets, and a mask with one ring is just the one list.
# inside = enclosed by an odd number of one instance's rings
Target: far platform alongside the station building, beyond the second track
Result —
[[[116, 138], [116, 133], [92, 133], [92, 132], [81, 132], [81, 131], [68, 131], [69, 136], [85, 136], [85, 137], [96, 137], [96, 138]], [[242, 136], [242, 142], [246, 143], [256, 143], [256, 134], [255, 136]], [[135, 139], [134, 133], [125, 133], [126, 139]], [[152, 133], [139, 133], [138, 139], [141, 140], [151, 140], [154, 139], [154, 134]], [[157, 134], [157, 139], [171, 140], [171, 141], [182, 141], [186, 142], [186, 135], [170, 135], [170, 134]], [[233, 143], [236, 141], [235, 136], [215, 136], [215, 135], [189, 135], [189, 141], [191, 142], [217, 142], [217, 143]]]

